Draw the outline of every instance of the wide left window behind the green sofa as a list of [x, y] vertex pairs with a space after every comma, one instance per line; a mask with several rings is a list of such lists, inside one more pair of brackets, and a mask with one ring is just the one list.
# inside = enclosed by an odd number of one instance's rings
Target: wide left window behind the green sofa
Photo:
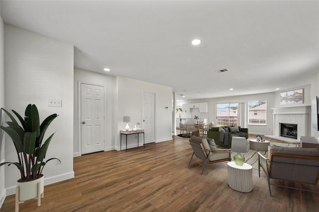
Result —
[[217, 126], [238, 125], [238, 103], [217, 104]]

